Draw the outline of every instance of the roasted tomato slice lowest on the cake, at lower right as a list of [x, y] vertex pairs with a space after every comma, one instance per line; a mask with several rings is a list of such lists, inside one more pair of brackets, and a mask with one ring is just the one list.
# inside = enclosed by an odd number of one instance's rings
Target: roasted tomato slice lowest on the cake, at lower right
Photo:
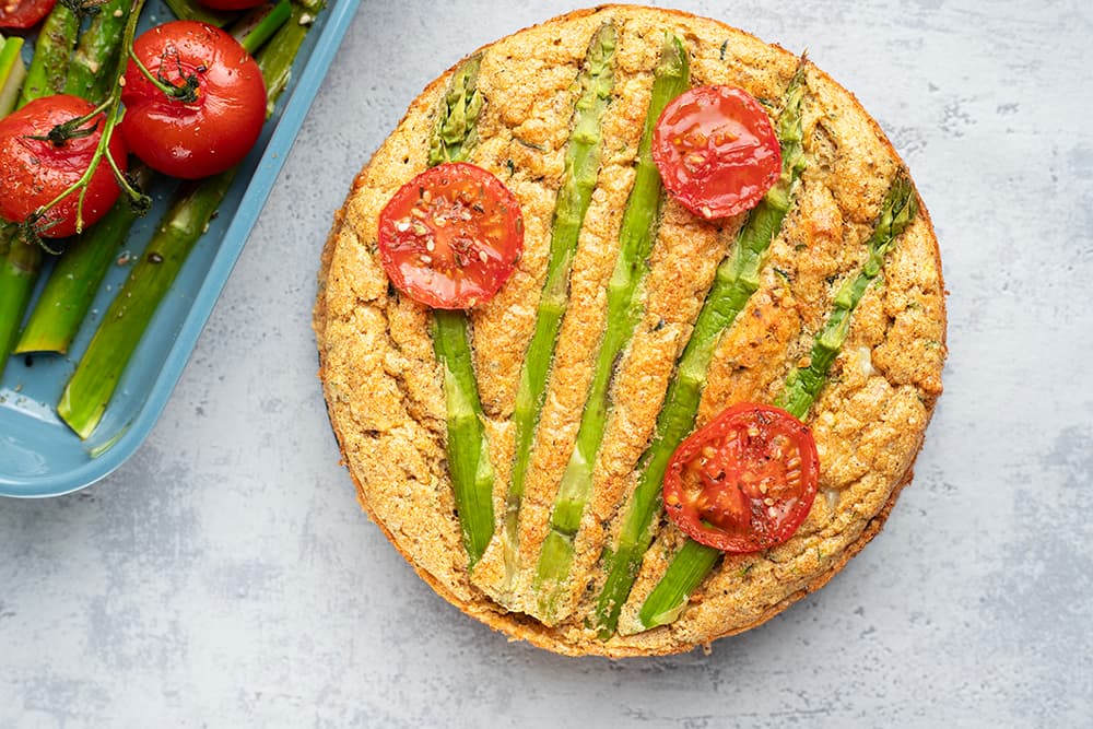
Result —
[[691, 539], [756, 552], [789, 539], [816, 494], [812, 433], [772, 405], [743, 402], [686, 438], [665, 474], [665, 508]]

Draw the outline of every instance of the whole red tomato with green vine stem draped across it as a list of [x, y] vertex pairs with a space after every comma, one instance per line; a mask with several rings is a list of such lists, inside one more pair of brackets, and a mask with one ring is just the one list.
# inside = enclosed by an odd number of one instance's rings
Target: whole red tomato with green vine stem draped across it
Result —
[[[102, 138], [104, 115], [98, 115], [98, 126], [92, 134], [71, 139], [60, 146], [31, 137], [45, 137], [57, 125], [93, 110], [94, 106], [78, 96], [59, 94], [35, 99], [0, 119], [0, 216], [22, 222], [83, 176]], [[125, 171], [126, 146], [119, 134], [110, 138], [108, 149], [118, 167]], [[105, 215], [119, 193], [110, 165], [104, 158], [84, 195], [84, 227]], [[37, 223], [40, 235], [63, 238], [75, 233], [79, 200], [80, 193], [75, 191], [51, 208]]]

